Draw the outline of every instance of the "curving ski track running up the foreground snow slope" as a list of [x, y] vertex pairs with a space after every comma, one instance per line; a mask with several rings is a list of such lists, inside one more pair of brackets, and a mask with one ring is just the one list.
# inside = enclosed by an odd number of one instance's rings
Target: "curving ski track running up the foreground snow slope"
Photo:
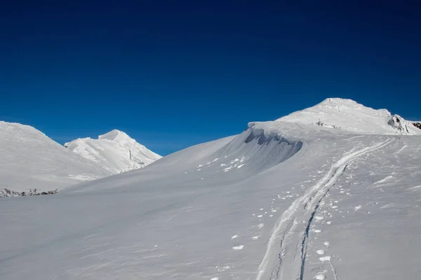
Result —
[[[321, 200], [328, 193], [328, 190], [335, 185], [336, 181], [340, 179], [349, 162], [359, 158], [361, 155], [383, 148], [392, 141], [393, 139], [387, 139], [359, 151], [346, 153], [330, 167], [328, 173], [316, 185], [309, 188], [304, 195], [298, 197], [283, 212], [274, 225], [272, 235], [267, 242], [267, 251], [258, 267], [256, 280], [303, 279], [310, 225]], [[294, 234], [295, 232], [300, 232], [300, 234]], [[327, 258], [329, 258], [328, 262], [333, 279], [338, 279], [330, 257], [322, 258], [323, 260], [328, 260]]]

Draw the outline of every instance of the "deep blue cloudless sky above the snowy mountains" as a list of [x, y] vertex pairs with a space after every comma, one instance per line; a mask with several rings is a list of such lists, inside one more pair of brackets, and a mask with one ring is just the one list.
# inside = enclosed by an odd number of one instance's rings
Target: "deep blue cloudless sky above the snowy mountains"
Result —
[[326, 97], [421, 120], [415, 3], [2, 1], [0, 120], [163, 155]]

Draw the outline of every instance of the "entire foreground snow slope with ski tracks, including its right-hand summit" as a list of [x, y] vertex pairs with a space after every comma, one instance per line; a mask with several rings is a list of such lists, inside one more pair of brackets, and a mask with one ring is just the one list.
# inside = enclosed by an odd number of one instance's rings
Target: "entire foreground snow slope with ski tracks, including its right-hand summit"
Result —
[[418, 279], [421, 136], [350, 104], [1, 201], [0, 278]]

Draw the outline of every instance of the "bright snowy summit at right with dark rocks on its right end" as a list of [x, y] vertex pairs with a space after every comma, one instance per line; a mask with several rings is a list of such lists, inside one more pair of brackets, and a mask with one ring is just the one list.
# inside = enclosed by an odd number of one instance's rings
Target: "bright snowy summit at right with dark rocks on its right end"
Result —
[[319, 125], [361, 134], [421, 134], [413, 122], [386, 109], [375, 110], [352, 99], [328, 98], [276, 121]]

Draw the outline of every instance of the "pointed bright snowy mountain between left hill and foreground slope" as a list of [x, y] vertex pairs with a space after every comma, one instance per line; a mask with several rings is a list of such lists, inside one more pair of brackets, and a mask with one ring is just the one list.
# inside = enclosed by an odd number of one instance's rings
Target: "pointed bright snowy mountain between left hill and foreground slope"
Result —
[[119, 130], [100, 135], [98, 139], [76, 139], [65, 147], [112, 174], [145, 167], [161, 158]]

